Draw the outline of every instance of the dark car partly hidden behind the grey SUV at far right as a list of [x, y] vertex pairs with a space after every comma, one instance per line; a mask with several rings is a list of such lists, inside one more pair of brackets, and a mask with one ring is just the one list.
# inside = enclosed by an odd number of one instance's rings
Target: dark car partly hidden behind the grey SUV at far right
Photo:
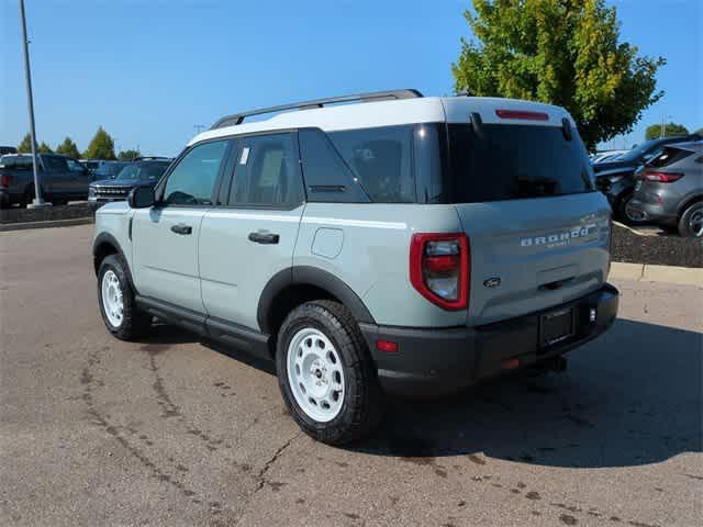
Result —
[[649, 159], [657, 157], [667, 145], [700, 141], [695, 134], [651, 139], [633, 148], [617, 159], [593, 165], [596, 187], [607, 197], [613, 214], [627, 221], [625, 209], [633, 197], [635, 172]]

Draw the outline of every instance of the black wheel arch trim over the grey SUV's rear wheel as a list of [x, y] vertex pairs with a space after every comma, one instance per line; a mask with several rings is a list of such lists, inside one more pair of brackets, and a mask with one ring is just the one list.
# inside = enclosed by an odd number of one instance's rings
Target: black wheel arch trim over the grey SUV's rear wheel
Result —
[[279, 293], [291, 285], [314, 285], [338, 299], [358, 323], [376, 324], [373, 316], [359, 295], [343, 280], [328, 271], [311, 266], [293, 266], [283, 269], [268, 281], [259, 296], [256, 319], [263, 333], [271, 334], [269, 314]]

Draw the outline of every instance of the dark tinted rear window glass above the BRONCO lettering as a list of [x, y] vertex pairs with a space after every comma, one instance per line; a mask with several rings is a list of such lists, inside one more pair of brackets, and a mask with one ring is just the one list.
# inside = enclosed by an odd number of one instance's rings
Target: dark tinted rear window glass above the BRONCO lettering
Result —
[[448, 125], [445, 195], [454, 203], [517, 200], [593, 191], [593, 172], [581, 139], [561, 127]]

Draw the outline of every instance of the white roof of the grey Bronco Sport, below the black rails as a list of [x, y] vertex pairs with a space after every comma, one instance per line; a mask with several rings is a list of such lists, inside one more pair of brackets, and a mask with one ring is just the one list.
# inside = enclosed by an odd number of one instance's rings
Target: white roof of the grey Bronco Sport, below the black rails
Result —
[[[496, 110], [540, 112], [548, 119], [505, 119], [498, 116]], [[188, 145], [217, 137], [300, 127], [333, 132], [415, 123], [468, 123], [472, 112], [478, 112], [489, 124], [561, 126], [561, 120], [567, 117], [576, 126], [566, 110], [551, 104], [488, 97], [421, 97], [287, 111], [261, 121], [209, 130], [193, 137]]]

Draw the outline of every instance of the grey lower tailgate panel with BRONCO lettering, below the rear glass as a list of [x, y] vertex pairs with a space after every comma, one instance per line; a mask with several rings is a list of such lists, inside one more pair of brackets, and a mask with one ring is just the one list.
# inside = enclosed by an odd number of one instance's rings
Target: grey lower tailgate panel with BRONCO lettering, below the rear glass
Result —
[[600, 192], [456, 208], [471, 248], [468, 325], [559, 305], [607, 278], [611, 209]]

